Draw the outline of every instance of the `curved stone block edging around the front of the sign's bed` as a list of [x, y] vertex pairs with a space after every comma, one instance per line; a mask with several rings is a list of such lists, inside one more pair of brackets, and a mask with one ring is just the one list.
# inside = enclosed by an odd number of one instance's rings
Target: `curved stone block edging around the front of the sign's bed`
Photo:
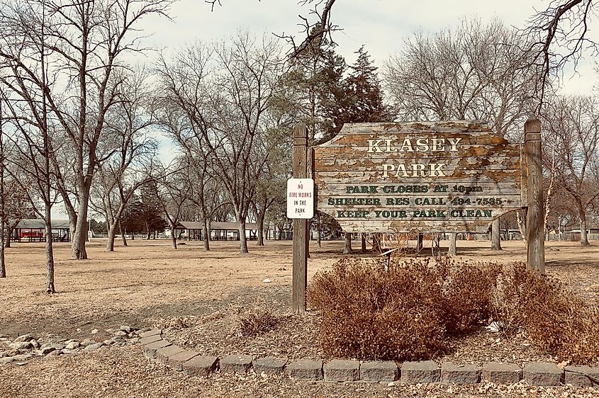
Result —
[[143, 352], [147, 358], [158, 360], [173, 370], [190, 376], [206, 377], [216, 370], [221, 373], [246, 374], [252, 370], [257, 374], [285, 374], [293, 380], [329, 382], [401, 382], [405, 384], [435, 383], [472, 385], [485, 380], [495, 384], [513, 384], [524, 380], [528, 385], [575, 387], [599, 385], [599, 368], [588, 366], [566, 366], [564, 370], [554, 363], [526, 363], [524, 368], [515, 364], [490, 362], [483, 367], [476, 365], [454, 365], [442, 363], [441, 367], [432, 360], [404, 362], [398, 366], [394, 361], [295, 360], [252, 356], [201, 356], [186, 351], [162, 339], [161, 329], [152, 329], [141, 334]]

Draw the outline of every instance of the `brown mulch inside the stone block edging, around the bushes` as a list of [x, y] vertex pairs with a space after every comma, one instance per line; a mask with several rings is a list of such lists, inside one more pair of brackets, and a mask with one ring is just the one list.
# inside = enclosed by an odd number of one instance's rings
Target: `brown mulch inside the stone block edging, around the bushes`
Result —
[[[159, 319], [154, 324], [164, 329], [164, 339], [203, 355], [247, 354], [289, 360], [332, 359], [323, 353], [318, 344], [318, 313], [282, 314], [279, 315], [279, 321], [275, 329], [254, 337], [240, 334], [235, 312], [214, 312], [203, 317], [187, 317], [186, 321], [181, 321], [181, 318]], [[485, 328], [450, 341], [447, 352], [434, 359], [476, 365], [491, 360], [518, 365], [536, 361], [557, 362], [552, 356], [539, 352], [523, 332], [504, 336]]]

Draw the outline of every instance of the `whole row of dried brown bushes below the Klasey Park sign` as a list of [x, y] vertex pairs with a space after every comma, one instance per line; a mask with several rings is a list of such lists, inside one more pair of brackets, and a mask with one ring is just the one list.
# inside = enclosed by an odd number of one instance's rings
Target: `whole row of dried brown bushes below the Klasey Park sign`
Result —
[[599, 311], [523, 263], [344, 258], [315, 275], [308, 303], [322, 313], [320, 343], [330, 356], [420, 360], [448, 339], [498, 321], [525, 329], [542, 351], [571, 363], [599, 355]]

